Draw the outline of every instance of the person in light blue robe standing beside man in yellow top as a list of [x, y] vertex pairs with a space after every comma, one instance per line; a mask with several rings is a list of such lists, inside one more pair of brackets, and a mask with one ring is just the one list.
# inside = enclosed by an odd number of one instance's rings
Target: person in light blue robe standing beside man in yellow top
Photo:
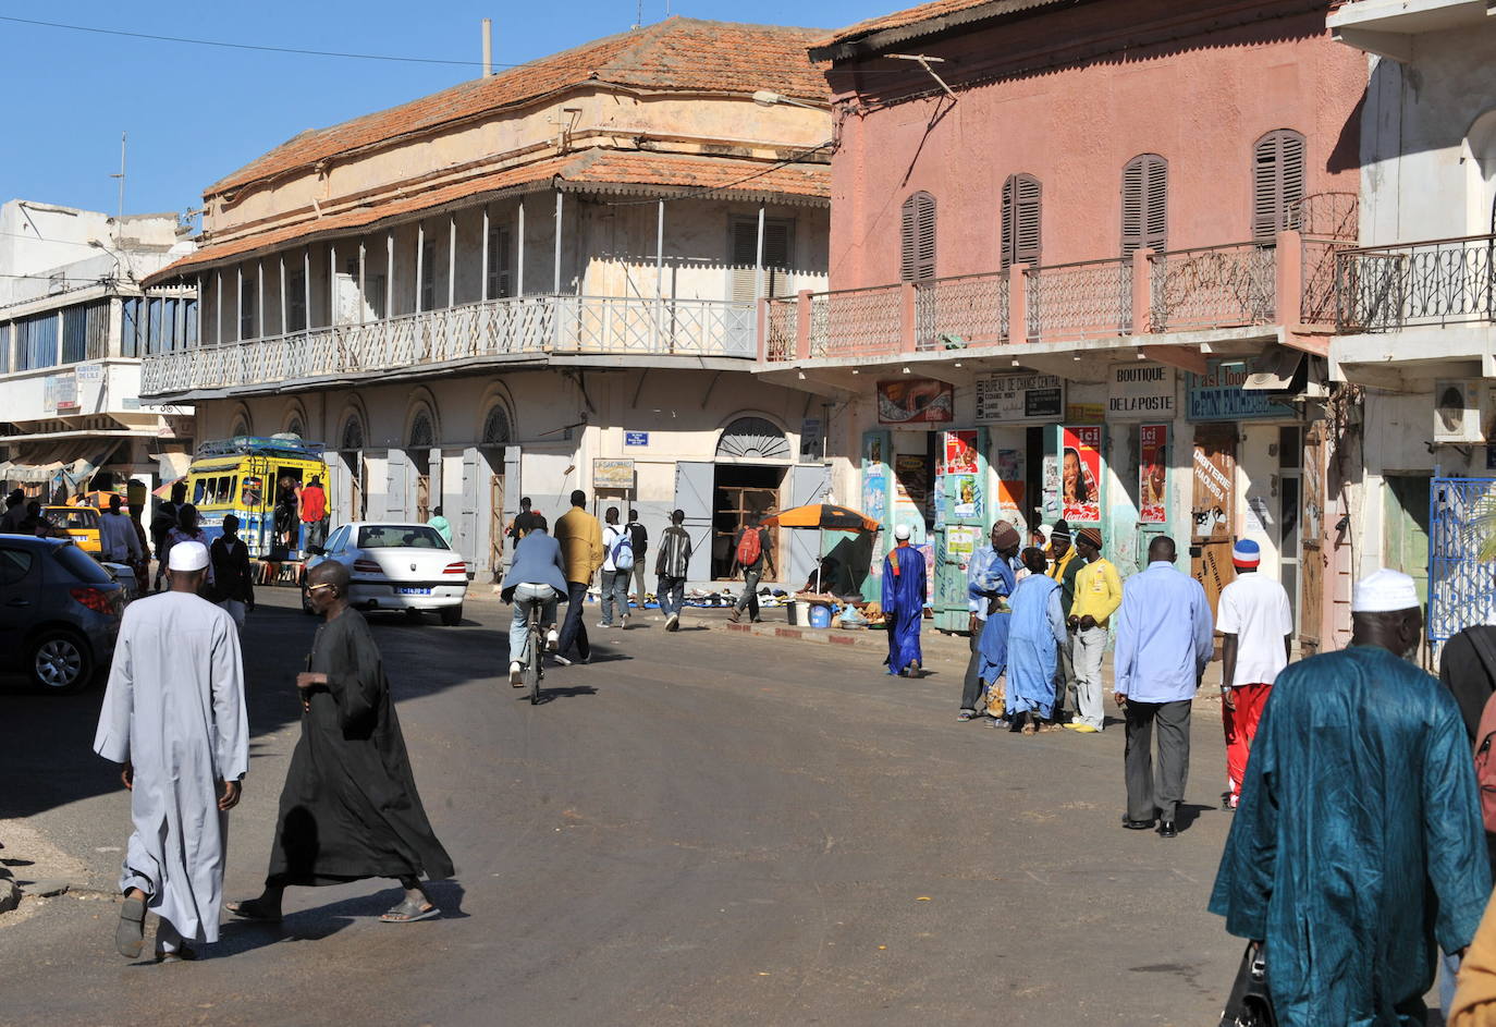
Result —
[[1065, 642], [1065, 611], [1059, 582], [1044, 575], [1044, 554], [1023, 551], [1028, 578], [1013, 590], [1013, 623], [1008, 627], [1008, 719], [1026, 714], [1023, 734], [1032, 735], [1040, 722], [1055, 714], [1055, 672]]

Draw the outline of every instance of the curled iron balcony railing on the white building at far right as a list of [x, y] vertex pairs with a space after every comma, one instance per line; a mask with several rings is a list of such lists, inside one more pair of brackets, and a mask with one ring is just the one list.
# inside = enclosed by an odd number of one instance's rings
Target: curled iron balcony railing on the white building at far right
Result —
[[1496, 322], [1496, 235], [1343, 250], [1334, 293], [1342, 332]]

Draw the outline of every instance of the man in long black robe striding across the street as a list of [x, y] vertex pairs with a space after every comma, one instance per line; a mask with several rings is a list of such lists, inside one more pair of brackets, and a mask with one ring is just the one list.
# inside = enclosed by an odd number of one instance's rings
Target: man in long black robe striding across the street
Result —
[[450, 877], [452, 859], [426, 820], [378, 648], [349, 608], [349, 570], [319, 563], [307, 593], [323, 615], [301, 690], [301, 741], [281, 790], [265, 892], [230, 903], [245, 919], [278, 921], [290, 885], [393, 877], [404, 900], [380, 916], [407, 924], [438, 916], [419, 877]]

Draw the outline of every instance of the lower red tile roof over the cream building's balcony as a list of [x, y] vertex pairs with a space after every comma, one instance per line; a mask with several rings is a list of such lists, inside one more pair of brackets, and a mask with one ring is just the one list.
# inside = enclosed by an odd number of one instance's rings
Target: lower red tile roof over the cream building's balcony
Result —
[[[429, 192], [356, 207], [326, 217], [307, 217], [266, 232], [223, 243], [208, 243], [196, 253], [172, 262], [147, 277], [144, 284], [159, 284], [230, 257], [266, 253], [292, 243], [350, 234], [375, 223], [390, 222], [446, 207], [461, 199], [504, 190], [519, 192], [555, 184], [568, 192], [664, 195], [690, 199], [700, 192], [711, 198], [778, 199], [812, 204], [830, 201], [830, 168], [824, 163], [779, 165], [739, 157], [699, 157], [660, 154], [639, 150], [588, 150], [565, 157], [549, 157], [519, 168], [506, 168]], [[676, 192], [679, 190], [679, 192]]]

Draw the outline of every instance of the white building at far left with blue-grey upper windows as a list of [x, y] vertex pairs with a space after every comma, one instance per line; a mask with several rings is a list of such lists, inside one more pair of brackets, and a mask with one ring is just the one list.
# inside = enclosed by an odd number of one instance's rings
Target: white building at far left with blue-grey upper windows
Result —
[[[0, 485], [52, 502], [177, 478], [191, 407], [141, 400], [141, 358], [186, 346], [190, 287], [141, 283], [191, 252], [175, 214], [0, 207]], [[97, 482], [94, 481], [97, 478]]]

